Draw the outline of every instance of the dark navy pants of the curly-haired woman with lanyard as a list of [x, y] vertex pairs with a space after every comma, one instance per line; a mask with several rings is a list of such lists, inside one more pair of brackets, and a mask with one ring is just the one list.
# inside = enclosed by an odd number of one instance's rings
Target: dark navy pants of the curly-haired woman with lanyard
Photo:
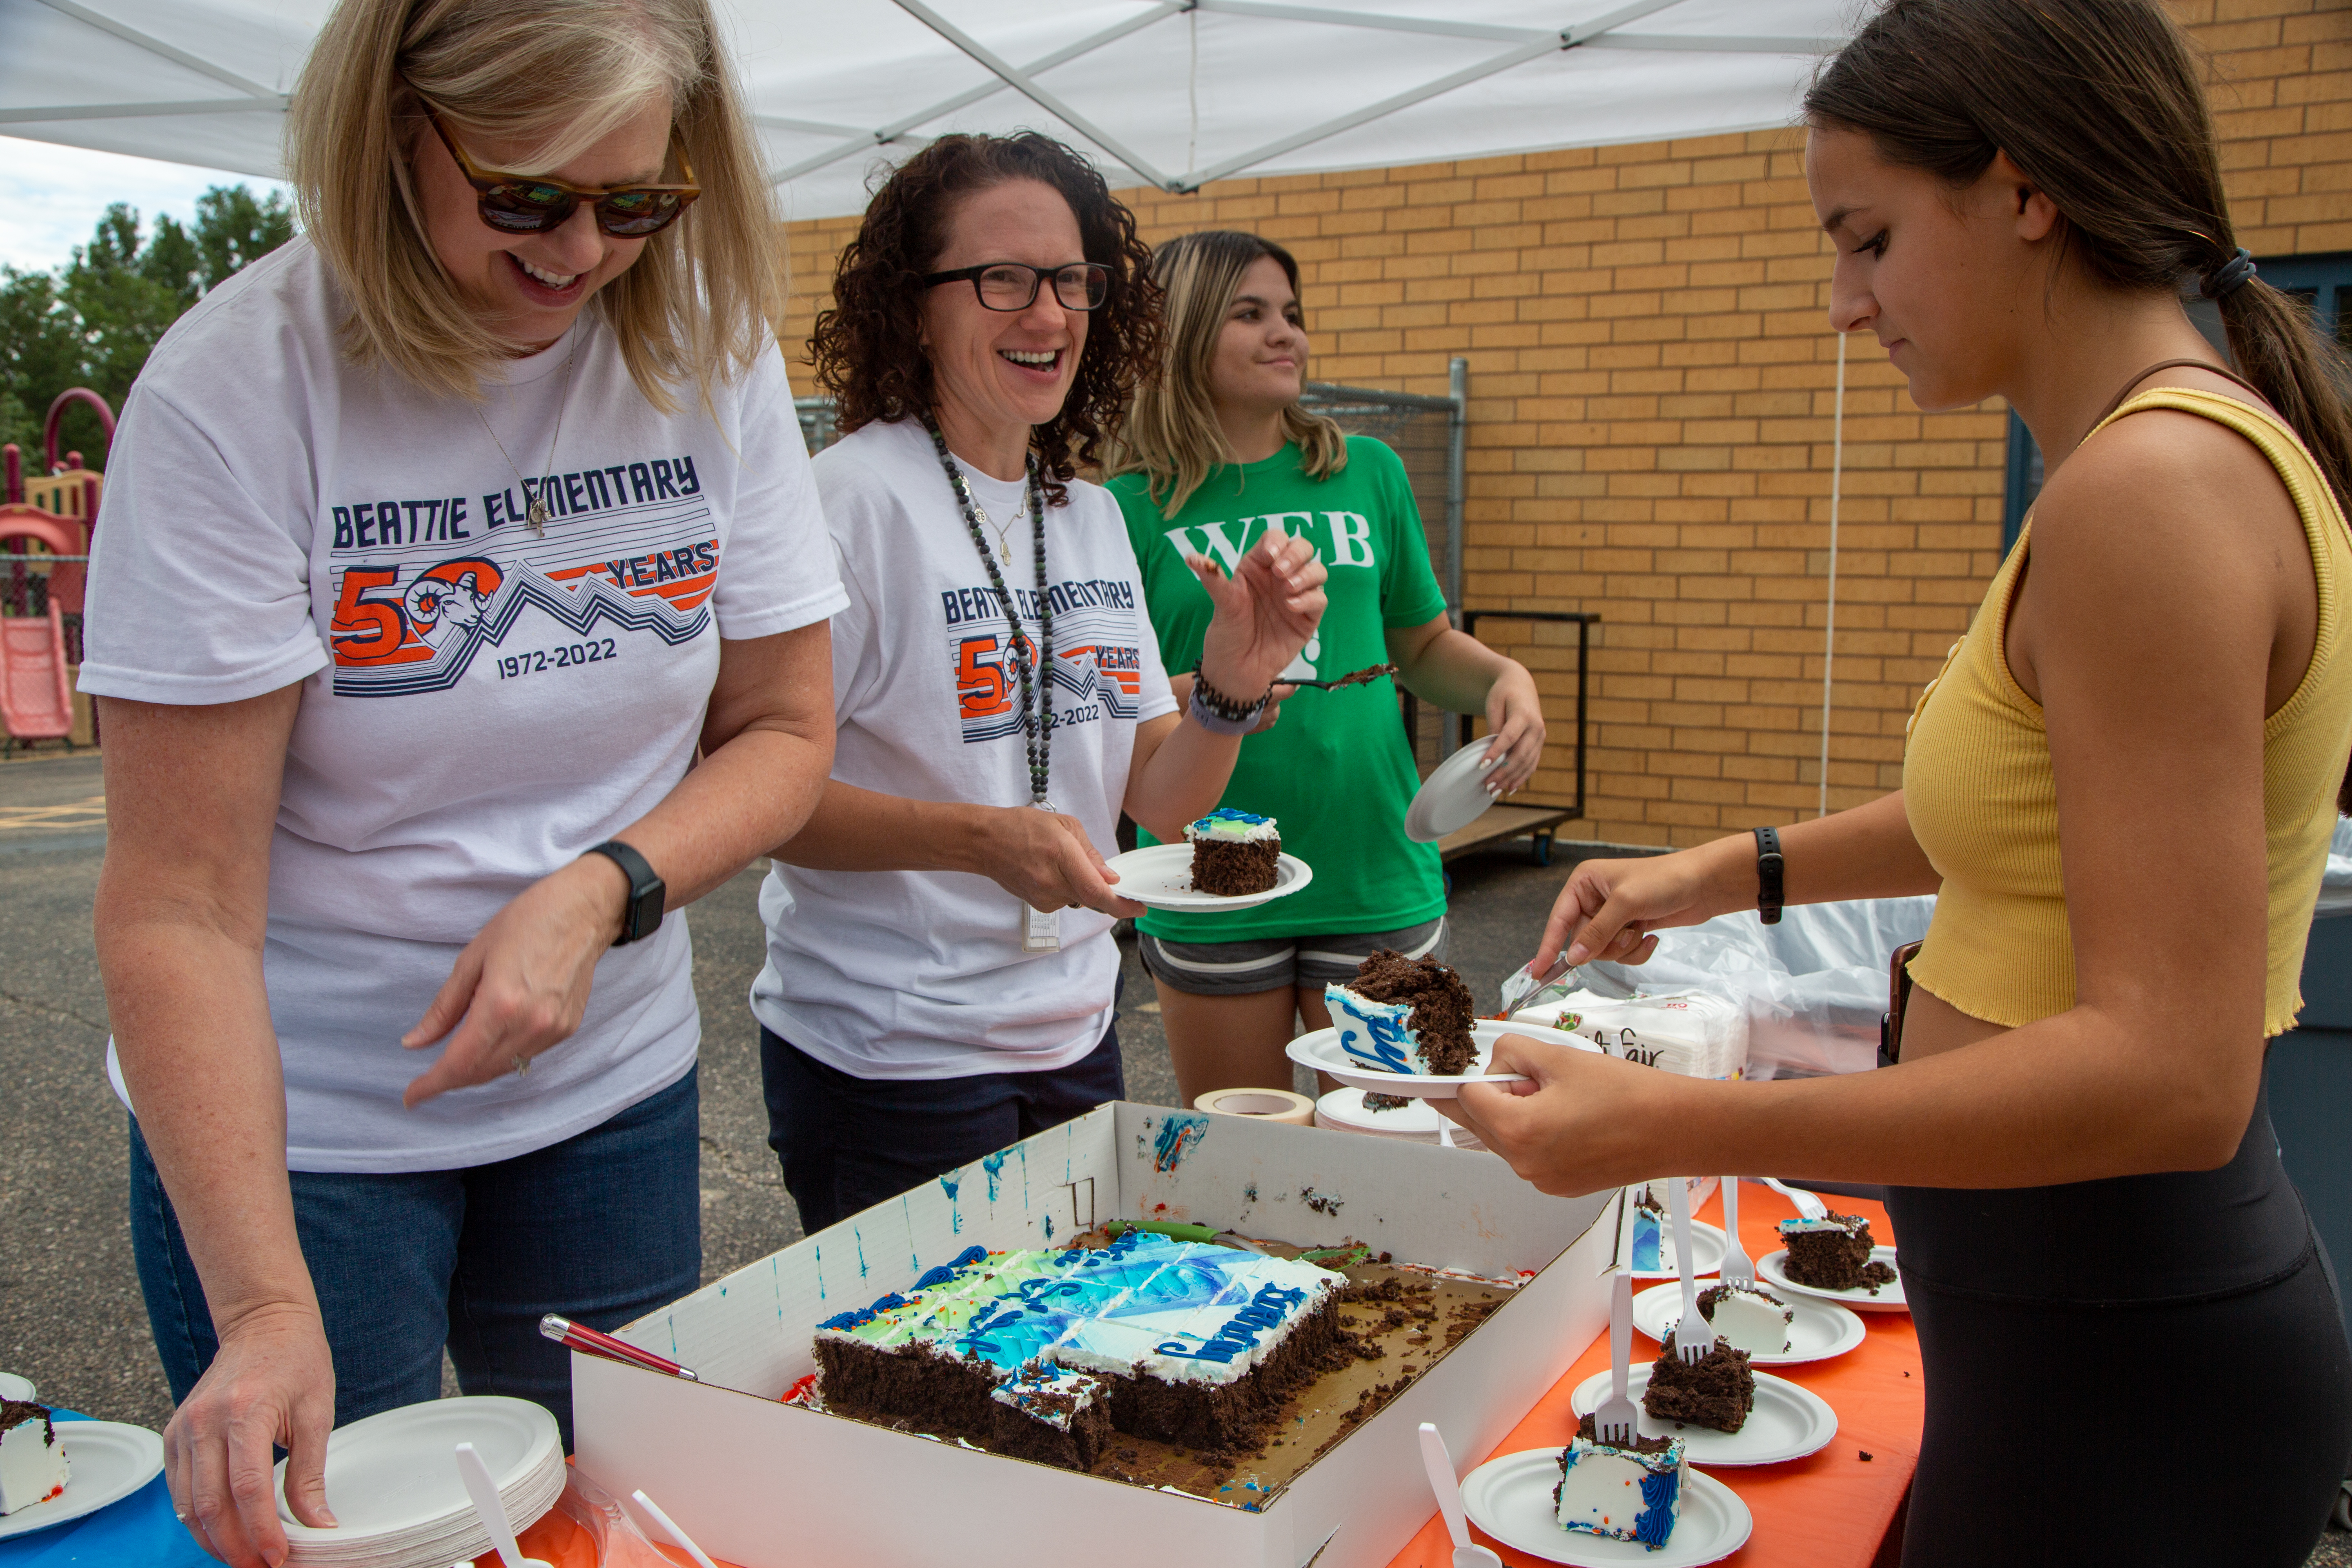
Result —
[[967, 1079], [861, 1079], [760, 1027], [767, 1145], [816, 1234], [934, 1175], [1127, 1098], [1120, 1025], [1068, 1067]]

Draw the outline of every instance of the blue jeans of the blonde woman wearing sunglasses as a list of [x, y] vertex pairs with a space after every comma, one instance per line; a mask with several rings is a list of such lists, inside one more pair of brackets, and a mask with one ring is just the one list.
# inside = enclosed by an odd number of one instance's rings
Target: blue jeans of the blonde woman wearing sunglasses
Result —
[[[459, 1387], [543, 1403], [572, 1450], [560, 1312], [619, 1328], [701, 1284], [696, 1072], [562, 1143], [463, 1171], [292, 1171], [294, 1229], [334, 1352], [334, 1425]], [[179, 1218], [132, 1121], [132, 1253], [181, 1401], [219, 1349]]]

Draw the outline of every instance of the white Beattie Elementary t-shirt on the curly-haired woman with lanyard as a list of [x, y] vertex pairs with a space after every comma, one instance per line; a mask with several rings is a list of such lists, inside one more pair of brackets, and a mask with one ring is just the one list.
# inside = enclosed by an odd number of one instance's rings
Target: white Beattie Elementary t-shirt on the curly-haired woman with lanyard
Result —
[[[1023, 482], [967, 468], [988, 548], [1037, 637]], [[816, 454], [849, 609], [833, 618], [833, 776], [884, 795], [1030, 802], [1011, 628], [917, 421], [866, 425]], [[1044, 512], [1054, 609], [1047, 797], [1117, 853], [1136, 724], [1176, 710], [1143, 581], [1110, 491], [1070, 482]], [[1021, 900], [969, 872], [816, 872], [776, 863], [760, 889], [767, 969], [750, 1011], [861, 1079], [1065, 1067], [1103, 1039], [1120, 950], [1110, 917], [1061, 912], [1061, 950], [1023, 952]]]

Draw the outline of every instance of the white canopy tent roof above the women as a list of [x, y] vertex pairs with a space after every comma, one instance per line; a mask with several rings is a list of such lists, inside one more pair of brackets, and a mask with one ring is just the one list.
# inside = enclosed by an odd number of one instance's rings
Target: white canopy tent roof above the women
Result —
[[[1190, 190], [1788, 125], [1844, 0], [717, 0], [795, 219], [1037, 127]], [[0, 0], [0, 134], [278, 176], [329, 0]]]

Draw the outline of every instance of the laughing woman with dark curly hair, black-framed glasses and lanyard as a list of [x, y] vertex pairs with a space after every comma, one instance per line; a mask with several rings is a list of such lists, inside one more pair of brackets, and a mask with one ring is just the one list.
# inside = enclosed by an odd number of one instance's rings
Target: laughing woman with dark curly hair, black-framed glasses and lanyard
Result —
[[776, 851], [753, 985], [769, 1143], [816, 1232], [1122, 1095], [1103, 853], [1216, 806], [1324, 569], [1190, 562], [1178, 703], [1101, 461], [1160, 346], [1134, 216], [1070, 148], [943, 136], [875, 193], [811, 339], [849, 609], [833, 783]]

